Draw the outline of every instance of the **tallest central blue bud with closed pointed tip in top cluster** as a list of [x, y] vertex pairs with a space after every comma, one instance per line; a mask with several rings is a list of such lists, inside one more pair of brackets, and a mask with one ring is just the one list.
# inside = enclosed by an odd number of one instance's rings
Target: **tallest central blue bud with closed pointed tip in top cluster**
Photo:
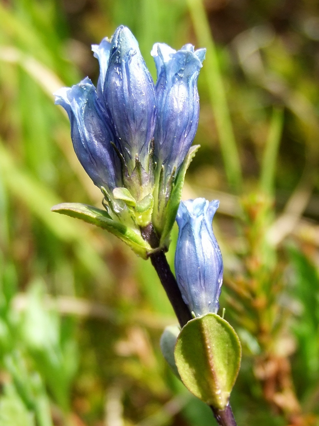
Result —
[[118, 147], [128, 165], [132, 169], [138, 155], [148, 170], [155, 129], [156, 93], [137, 40], [124, 26], [112, 37], [104, 98], [117, 133]]

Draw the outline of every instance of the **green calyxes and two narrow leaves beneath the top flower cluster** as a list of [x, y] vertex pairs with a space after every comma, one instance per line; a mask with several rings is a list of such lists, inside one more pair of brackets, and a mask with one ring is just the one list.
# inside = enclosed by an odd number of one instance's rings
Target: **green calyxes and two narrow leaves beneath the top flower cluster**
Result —
[[[128, 176], [128, 170], [124, 173], [125, 187], [116, 187], [113, 191], [101, 187], [106, 210], [81, 203], [62, 203], [51, 210], [108, 230], [129, 245], [137, 255], [148, 259], [154, 250], [168, 249], [171, 229], [182, 198], [185, 173], [198, 148], [199, 145], [191, 147], [178, 173], [175, 175], [173, 171], [167, 182], [163, 180], [164, 167], [154, 183], [153, 172], [146, 173], [139, 159], [135, 158], [131, 176]], [[150, 162], [151, 169], [151, 159]], [[125, 162], [123, 167], [126, 167]], [[157, 248], [151, 248], [142, 237], [141, 230], [150, 224], [159, 239]]]

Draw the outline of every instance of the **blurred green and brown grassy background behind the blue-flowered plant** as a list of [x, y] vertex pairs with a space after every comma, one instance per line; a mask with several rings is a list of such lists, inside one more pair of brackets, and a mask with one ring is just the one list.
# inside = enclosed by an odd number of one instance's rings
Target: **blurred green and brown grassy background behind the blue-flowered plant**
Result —
[[101, 207], [52, 93], [97, 81], [91, 43], [120, 24], [154, 78], [153, 43], [208, 49], [183, 198], [221, 201], [238, 425], [319, 425], [318, 2], [1, 0], [0, 426], [215, 424], [160, 353], [176, 320], [151, 263], [50, 211]]

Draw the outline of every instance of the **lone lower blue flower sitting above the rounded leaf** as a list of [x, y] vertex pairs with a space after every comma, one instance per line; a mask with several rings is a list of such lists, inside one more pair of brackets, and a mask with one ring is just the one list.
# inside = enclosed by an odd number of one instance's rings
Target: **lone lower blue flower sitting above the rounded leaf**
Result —
[[196, 316], [217, 313], [223, 263], [212, 221], [218, 200], [182, 201], [177, 213], [179, 234], [175, 274], [184, 302]]

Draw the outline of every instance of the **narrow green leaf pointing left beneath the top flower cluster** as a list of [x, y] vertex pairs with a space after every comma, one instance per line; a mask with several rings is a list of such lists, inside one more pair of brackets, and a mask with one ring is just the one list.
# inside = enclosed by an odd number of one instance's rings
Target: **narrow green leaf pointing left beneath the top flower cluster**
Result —
[[143, 259], [147, 259], [148, 253], [152, 251], [151, 246], [142, 238], [139, 231], [113, 220], [105, 210], [81, 203], [57, 204], [51, 210], [106, 229], [129, 245]]

